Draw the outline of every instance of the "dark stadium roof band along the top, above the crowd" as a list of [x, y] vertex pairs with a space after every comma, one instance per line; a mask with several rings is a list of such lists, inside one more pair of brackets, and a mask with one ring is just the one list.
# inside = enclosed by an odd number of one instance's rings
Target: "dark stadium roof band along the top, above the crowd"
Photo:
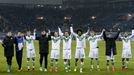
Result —
[[[134, 0], [0, 0], [0, 6], [16, 6], [16, 7], [48, 7], [55, 8], [103, 8], [115, 6], [133, 6]], [[54, 5], [54, 6], [53, 6]]]

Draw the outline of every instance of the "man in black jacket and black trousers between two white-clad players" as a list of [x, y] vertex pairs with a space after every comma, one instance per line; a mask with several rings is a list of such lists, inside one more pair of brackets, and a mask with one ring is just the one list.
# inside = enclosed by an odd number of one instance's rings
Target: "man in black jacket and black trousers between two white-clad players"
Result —
[[51, 36], [46, 31], [41, 32], [41, 36], [36, 36], [36, 40], [39, 41], [39, 54], [40, 54], [40, 71], [42, 71], [42, 62], [44, 60], [44, 71], [47, 71], [48, 65], [48, 53], [49, 53], [49, 41], [51, 40]]

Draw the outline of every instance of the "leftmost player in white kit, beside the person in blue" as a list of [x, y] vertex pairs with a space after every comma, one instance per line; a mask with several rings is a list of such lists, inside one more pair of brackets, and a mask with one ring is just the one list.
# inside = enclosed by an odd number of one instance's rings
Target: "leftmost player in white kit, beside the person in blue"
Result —
[[35, 31], [34, 30], [34, 35], [31, 35], [31, 32], [28, 31], [27, 35], [25, 36], [25, 42], [26, 42], [26, 55], [27, 55], [27, 69], [28, 71], [30, 70], [30, 58], [32, 58], [32, 70], [35, 68], [35, 48], [34, 48], [34, 41], [35, 40]]

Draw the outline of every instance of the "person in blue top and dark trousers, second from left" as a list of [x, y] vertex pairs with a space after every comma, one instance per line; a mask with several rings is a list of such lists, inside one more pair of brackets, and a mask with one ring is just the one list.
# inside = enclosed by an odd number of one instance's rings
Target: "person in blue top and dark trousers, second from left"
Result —
[[18, 32], [17, 36], [15, 37], [16, 60], [19, 66], [18, 71], [22, 70], [23, 43], [23, 35], [21, 32]]

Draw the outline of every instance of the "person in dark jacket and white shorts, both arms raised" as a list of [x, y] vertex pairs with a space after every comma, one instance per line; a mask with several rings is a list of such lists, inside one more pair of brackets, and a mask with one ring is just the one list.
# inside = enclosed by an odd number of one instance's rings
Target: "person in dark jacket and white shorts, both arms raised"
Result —
[[114, 55], [117, 54], [116, 40], [117, 40], [117, 38], [119, 36], [119, 33], [120, 33], [120, 29], [118, 29], [118, 32], [117, 32], [117, 34], [115, 36], [113, 36], [111, 32], [108, 34], [108, 36], [106, 36], [105, 30], [103, 32], [103, 38], [104, 38], [104, 41], [106, 42], [107, 70], [109, 70], [109, 60], [111, 60], [111, 62], [112, 62], [112, 71], [115, 71]]

